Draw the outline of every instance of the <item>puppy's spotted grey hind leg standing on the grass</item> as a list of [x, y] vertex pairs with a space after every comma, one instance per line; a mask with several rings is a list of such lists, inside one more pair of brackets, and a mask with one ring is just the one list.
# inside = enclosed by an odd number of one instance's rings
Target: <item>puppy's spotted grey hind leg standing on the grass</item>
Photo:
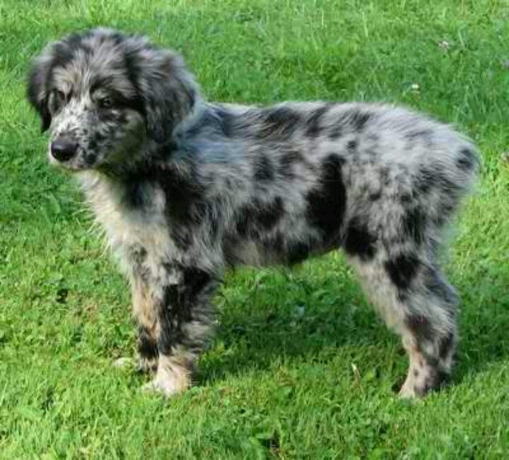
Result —
[[436, 265], [415, 254], [351, 260], [368, 297], [402, 337], [409, 370], [399, 394], [421, 397], [450, 373], [457, 342], [457, 296]]

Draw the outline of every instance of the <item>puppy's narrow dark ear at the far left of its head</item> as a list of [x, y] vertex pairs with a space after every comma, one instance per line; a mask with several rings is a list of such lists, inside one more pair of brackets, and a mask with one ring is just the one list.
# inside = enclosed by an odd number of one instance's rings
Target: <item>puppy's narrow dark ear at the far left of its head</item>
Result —
[[41, 56], [35, 59], [28, 75], [27, 96], [30, 104], [41, 117], [41, 129], [46, 131], [51, 124], [47, 94], [47, 79], [52, 68], [51, 56]]

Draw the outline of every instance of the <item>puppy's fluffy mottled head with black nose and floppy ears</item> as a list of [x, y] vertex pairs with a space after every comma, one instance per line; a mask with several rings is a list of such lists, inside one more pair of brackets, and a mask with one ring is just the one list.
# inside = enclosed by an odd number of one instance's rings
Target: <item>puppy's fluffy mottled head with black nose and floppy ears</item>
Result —
[[107, 29], [49, 44], [28, 82], [51, 131], [50, 161], [74, 170], [124, 162], [147, 139], [167, 142], [197, 97], [180, 55]]

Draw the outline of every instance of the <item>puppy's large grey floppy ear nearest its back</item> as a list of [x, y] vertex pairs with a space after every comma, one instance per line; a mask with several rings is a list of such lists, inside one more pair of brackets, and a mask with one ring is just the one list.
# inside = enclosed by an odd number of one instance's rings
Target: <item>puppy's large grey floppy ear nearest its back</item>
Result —
[[168, 50], [141, 51], [138, 90], [144, 104], [148, 136], [165, 143], [180, 121], [191, 114], [199, 90], [179, 54]]

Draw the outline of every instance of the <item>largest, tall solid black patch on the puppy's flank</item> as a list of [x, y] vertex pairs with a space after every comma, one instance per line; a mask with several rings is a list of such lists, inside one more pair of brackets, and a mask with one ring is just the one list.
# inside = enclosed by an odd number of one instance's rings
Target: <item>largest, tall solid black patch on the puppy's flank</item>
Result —
[[306, 195], [306, 218], [322, 231], [328, 243], [339, 236], [346, 205], [341, 164], [343, 160], [338, 155], [326, 157], [321, 166], [320, 185]]

